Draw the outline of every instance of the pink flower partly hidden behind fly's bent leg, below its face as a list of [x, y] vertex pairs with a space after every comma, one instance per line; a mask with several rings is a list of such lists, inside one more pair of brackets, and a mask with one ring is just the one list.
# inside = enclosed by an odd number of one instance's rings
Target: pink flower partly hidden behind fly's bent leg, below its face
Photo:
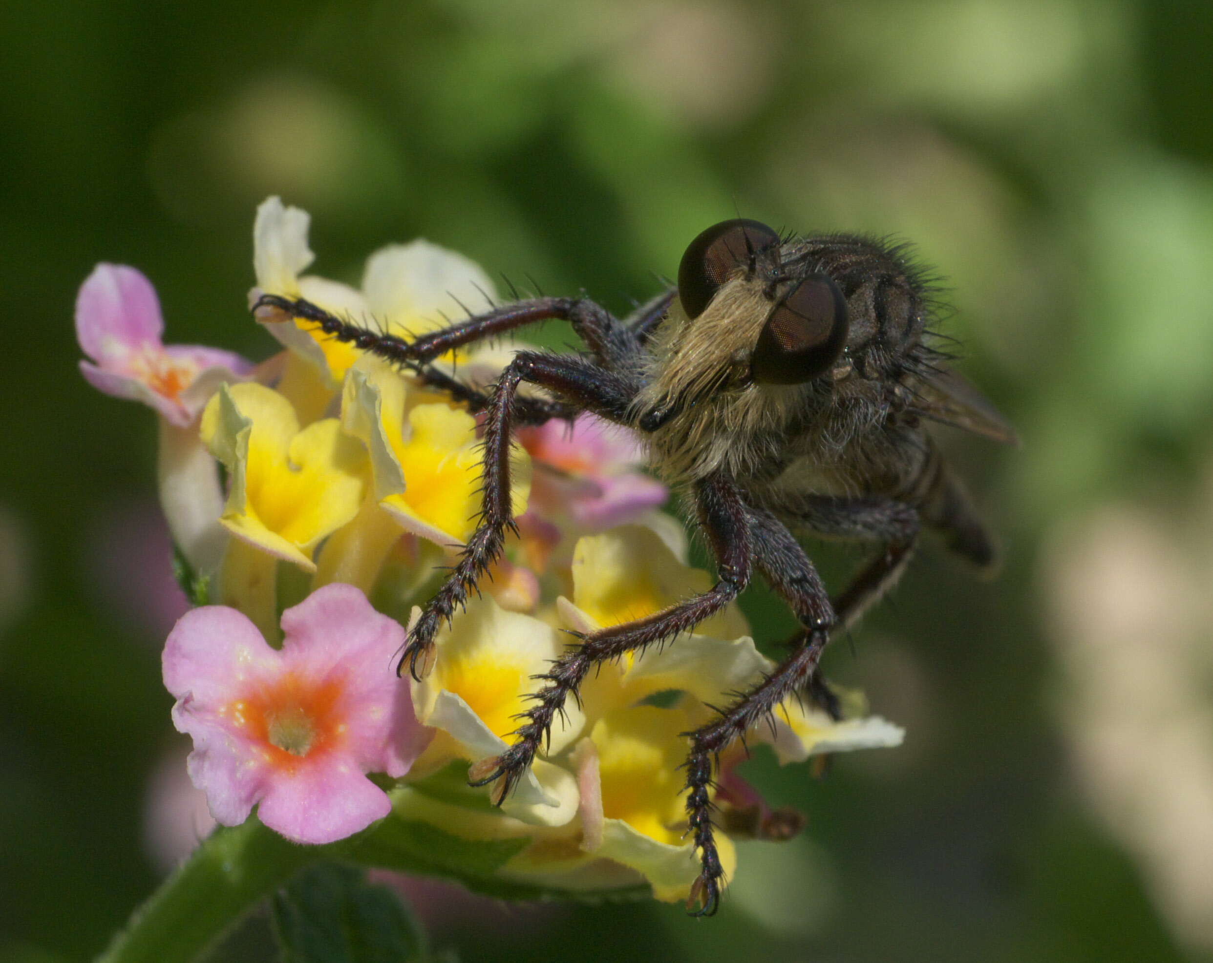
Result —
[[582, 529], [600, 531], [634, 522], [665, 502], [666, 486], [636, 471], [644, 463], [637, 438], [594, 415], [549, 421], [518, 432], [531, 456], [530, 509]]

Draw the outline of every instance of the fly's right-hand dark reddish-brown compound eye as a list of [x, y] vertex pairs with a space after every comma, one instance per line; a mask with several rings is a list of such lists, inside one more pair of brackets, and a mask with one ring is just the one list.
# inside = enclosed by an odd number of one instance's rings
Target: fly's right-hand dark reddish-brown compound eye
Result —
[[825, 374], [847, 344], [847, 298], [810, 274], [780, 301], [758, 335], [750, 376], [759, 384], [803, 384]]

